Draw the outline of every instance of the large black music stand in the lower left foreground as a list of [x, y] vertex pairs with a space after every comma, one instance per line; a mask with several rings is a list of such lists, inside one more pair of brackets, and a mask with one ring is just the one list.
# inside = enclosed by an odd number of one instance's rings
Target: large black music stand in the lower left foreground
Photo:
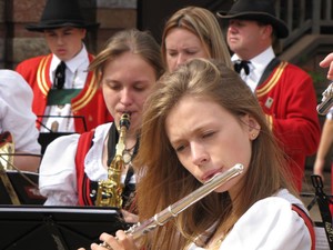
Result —
[[1, 241], [6, 250], [90, 249], [102, 232], [127, 229], [114, 208], [0, 207]]

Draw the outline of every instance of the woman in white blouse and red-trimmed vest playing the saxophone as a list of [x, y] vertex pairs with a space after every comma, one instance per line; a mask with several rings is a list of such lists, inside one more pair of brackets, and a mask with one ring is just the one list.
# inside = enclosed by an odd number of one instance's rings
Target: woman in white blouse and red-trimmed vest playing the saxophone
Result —
[[[123, 208], [131, 208], [135, 168], [132, 159], [138, 152], [142, 108], [155, 81], [163, 72], [160, 47], [143, 31], [119, 31], [89, 67], [99, 77], [105, 104], [114, 122], [108, 122], [83, 134], [70, 134], [52, 141], [40, 167], [40, 192], [47, 206], [99, 206], [97, 192], [100, 180], [107, 180], [115, 146], [119, 122], [130, 114], [121, 183], [124, 184]], [[130, 193], [127, 192], [129, 188]], [[128, 200], [130, 199], [130, 201]], [[128, 200], [128, 201], [127, 201]]]

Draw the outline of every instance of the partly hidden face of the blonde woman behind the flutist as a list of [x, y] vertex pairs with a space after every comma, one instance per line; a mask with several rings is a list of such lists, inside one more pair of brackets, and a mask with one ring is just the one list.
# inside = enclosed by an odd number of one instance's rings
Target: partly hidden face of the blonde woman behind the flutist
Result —
[[189, 59], [206, 58], [210, 54], [205, 44], [194, 33], [183, 29], [171, 29], [165, 37], [165, 58], [170, 72], [174, 71]]

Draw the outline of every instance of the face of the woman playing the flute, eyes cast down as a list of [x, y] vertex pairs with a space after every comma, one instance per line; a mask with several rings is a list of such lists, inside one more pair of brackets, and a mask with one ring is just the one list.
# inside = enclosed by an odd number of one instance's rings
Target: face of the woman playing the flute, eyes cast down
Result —
[[[213, 101], [184, 97], [171, 109], [165, 129], [180, 162], [204, 183], [236, 163], [248, 170], [251, 141], [256, 138], [260, 126], [249, 116], [241, 119], [242, 122]], [[232, 196], [242, 176], [215, 191], [229, 190]]]

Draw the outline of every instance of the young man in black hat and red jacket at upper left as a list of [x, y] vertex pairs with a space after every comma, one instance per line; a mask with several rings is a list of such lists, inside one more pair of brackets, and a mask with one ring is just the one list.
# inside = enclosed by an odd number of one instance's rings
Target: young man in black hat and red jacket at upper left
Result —
[[75, 0], [48, 0], [40, 23], [27, 26], [44, 33], [52, 52], [17, 67], [33, 90], [33, 112], [43, 116], [40, 131], [81, 133], [111, 120], [95, 77], [87, 71], [93, 56], [82, 42], [98, 26], [83, 20]]

